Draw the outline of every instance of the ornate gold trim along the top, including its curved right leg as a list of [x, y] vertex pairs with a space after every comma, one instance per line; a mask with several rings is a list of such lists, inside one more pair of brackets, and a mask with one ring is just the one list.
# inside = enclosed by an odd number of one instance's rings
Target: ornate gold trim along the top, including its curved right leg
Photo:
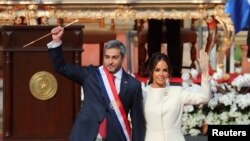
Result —
[[[112, 0], [111, 0], [112, 1]], [[48, 19], [64, 19], [65, 22], [72, 22], [78, 19], [80, 22], [87, 20], [129, 20], [133, 21], [136, 19], [202, 19], [209, 23], [209, 20], [216, 20], [223, 28], [224, 35], [221, 38], [221, 44], [218, 49], [218, 61], [217, 66], [221, 66], [226, 50], [231, 47], [234, 38], [233, 23], [229, 15], [225, 14], [225, 2], [227, 0], [193, 0], [189, 3], [185, 2], [188, 0], [176, 0], [159, 2], [144, 0], [133, 2], [124, 1], [122, 3], [70, 3], [62, 4], [42, 4], [36, 9], [36, 17], [48, 17]], [[34, 3], [33, 3], [34, 5]], [[30, 12], [28, 7], [34, 7], [32, 4], [9, 4], [0, 5], [2, 9], [0, 11], [0, 24], [13, 24], [16, 17], [26, 17], [28, 25], [34, 25], [35, 22], [30, 22], [30, 18], [27, 13]], [[17, 20], [18, 21], [18, 20]], [[56, 24], [56, 22], [54, 22]], [[215, 28], [217, 30], [217, 28]], [[212, 35], [217, 35], [216, 33]], [[211, 49], [214, 45], [214, 40], [217, 37], [212, 37], [211, 44], [208, 48]]]

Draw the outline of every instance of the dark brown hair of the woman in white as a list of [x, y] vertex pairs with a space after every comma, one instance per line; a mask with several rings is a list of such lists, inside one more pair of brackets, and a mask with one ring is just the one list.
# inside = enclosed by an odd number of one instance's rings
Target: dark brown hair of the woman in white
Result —
[[149, 82], [148, 82], [148, 84], [153, 83], [153, 72], [155, 70], [155, 67], [156, 67], [157, 63], [159, 61], [161, 61], [161, 60], [163, 60], [163, 61], [165, 61], [167, 63], [169, 77], [171, 77], [172, 67], [170, 65], [170, 61], [168, 59], [168, 56], [166, 54], [157, 52], [157, 53], [154, 53], [152, 55], [152, 57], [150, 58], [150, 60], [149, 60], [149, 64], [148, 64], [148, 68], [147, 68], [147, 72], [149, 74]]

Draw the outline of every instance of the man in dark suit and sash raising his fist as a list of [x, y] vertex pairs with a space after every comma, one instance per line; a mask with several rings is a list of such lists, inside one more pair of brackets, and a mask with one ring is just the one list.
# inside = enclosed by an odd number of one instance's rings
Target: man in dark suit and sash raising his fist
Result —
[[51, 32], [53, 41], [47, 46], [55, 70], [83, 87], [84, 100], [70, 140], [144, 141], [141, 83], [122, 69], [125, 46], [117, 40], [109, 41], [104, 46], [103, 66], [76, 66], [64, 62], [63, 28], [58, 26]]

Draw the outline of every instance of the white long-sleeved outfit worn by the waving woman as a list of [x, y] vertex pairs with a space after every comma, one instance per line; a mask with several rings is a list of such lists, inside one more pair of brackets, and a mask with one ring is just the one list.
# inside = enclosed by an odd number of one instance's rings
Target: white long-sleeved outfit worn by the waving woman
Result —
[[208, 102], [210, 89], [207, 88], [206, 86], [199, 91], [190, 92], [180, 86], [145, 87], [145, 141], [185, 141], [181, 131], [183, 107], [185, 104]]

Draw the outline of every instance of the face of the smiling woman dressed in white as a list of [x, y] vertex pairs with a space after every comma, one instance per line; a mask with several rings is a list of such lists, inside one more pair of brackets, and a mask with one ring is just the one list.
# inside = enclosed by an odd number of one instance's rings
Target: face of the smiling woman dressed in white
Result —
[[169, 77], [168, 65], [165, 61], [160, 60], [153, 70], [153, 83], [152, 87], [161, 88], [166, 86], [166, 81]]

